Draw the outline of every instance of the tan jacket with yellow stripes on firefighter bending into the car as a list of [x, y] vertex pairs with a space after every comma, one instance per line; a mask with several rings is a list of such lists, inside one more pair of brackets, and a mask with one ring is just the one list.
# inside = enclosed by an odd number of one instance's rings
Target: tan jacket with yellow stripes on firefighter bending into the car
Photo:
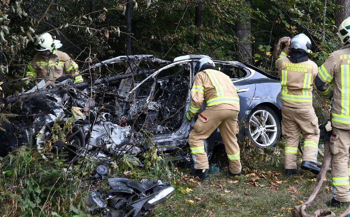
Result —
[[199, 111], [202, 103], [214, 110], [231, 109], [239, 111], [239, 98], [230, 77], [223, 72], [207, 69], [194, 76], [191, 89], [190, 112]]

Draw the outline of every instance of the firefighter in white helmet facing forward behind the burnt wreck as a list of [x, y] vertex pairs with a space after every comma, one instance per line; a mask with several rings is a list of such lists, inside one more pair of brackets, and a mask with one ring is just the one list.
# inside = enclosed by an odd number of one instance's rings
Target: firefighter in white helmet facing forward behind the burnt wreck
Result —
[[49, 33], [44, 33], [38, 37], [35, 45], [39, 53], [27, 66], [26, 84], [30, 84], [37, 77], [44, 79], [46, 84], [52, 84], [65, 73], [70, 73], [75, 83], [83, 81], [78, 72], [78, 64], [67, 53], [57, 50], [62, 47], [59, 40], [53, 39]]

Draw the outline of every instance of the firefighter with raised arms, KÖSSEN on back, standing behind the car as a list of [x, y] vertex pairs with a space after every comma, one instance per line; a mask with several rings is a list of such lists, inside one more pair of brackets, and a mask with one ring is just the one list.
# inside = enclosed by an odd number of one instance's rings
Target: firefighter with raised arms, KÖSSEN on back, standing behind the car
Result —
[[305, 139], [301, 168], [313, 174], [320, 171], [316, 164], [319, 129], [312, 107], [312, 84], [317, 75], [317, 65], [308, 58], [310, 47], [308, 36], [294, 36], [290, 41], [289, 55], [276, 61], [282, 86], [282, 135], [286, 139], [284, 167], [287, 176], [300, 171], [296, 164], [300, 133]]

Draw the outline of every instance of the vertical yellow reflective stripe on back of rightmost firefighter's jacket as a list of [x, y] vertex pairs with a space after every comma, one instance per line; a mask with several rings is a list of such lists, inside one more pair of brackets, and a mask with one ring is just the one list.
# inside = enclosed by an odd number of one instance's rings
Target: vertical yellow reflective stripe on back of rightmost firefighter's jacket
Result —
[[350, 111], [350, 66], [341, 65], [342, 77], [342, 114], [349, 116]]

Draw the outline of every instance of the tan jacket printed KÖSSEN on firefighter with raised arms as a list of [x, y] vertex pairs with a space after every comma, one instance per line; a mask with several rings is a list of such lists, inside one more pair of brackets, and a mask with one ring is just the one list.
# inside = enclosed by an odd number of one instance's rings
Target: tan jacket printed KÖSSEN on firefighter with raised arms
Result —
[[287, 57], [276, 61], [281, 81], [283, 106], [307, 109], [312, 106], [312, 84], [317, 75], [317, 65], [311, 61], [292, 63]]

